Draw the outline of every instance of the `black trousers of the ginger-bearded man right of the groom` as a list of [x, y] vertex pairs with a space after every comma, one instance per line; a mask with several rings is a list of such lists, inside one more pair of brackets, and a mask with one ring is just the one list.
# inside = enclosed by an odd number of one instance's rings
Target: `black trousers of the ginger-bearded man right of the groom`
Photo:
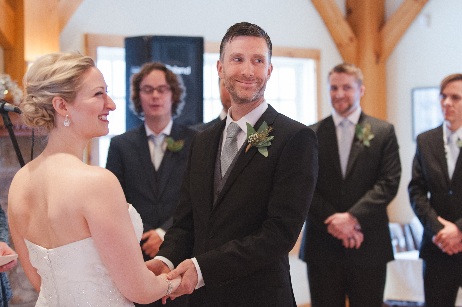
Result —
[[382, 307], [387, 265], [358, 267], [340, 261], [330, 267], [308, 265], [312, 307]]

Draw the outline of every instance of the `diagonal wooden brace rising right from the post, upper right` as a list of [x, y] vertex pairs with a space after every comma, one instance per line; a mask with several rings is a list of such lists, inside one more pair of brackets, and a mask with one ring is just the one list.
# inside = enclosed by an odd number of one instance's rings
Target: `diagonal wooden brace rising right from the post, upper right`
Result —
[[404, 0], [380, 30], [382, 40], [381, 58], [383, 61], [388, 59], [396, 44], [400, 41], [401, 36], [403, 36], [427, 2], [428, 0]]

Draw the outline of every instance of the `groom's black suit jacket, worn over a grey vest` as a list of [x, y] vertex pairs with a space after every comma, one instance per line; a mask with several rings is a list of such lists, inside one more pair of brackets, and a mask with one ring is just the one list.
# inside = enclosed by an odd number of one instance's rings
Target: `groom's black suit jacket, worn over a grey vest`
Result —
[[232, 300], [233, 293], [242, 295], [240, 306], [249, 306], [247, 299], [267, 299], [263, 288], [278, 287], [288, 290], [280, 306], [295, 306], [288, 252], [300, 234], [316, 183], [316, 135], [271, 106], [255, 129], [263, 121], [274, 128], [268, 157], [257, 147], [243, 150], [215, 205], [214, 168], [225, 121], [197, 134], [191, 144], [180, 203], [158, 255], [175, 266], [197, 259], [205, 289], [196, 292], [209, 299], [204, 306], [237, 306], [224, 299]]

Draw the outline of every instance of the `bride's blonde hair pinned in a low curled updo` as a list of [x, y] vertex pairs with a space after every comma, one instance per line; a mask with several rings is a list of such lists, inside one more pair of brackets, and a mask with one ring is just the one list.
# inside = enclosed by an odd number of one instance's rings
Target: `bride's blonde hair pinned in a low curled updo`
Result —
[[76, 52], [51, 53], [36, 60], [23, 78], [24, 123], [52, 130], [56, 126], [53, 97], [74, 102], [83, 85], [83, 75], [91, 67], [95, 67], [93, 59]]

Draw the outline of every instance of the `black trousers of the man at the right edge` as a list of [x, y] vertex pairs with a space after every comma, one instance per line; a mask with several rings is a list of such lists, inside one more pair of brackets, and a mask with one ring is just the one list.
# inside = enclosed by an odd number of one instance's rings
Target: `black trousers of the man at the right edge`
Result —
[[424, 261], [425, 307], [454, 307], [462, 286], [462, 264]]

